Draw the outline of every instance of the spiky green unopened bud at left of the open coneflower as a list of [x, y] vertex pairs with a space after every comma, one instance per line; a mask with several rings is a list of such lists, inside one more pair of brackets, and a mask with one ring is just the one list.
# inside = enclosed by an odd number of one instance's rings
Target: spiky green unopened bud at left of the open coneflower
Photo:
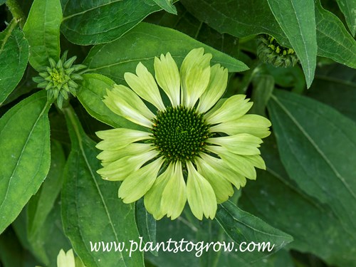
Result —
[[76, 95], [78, 84], [74, 80], [83, 80], [83, 78], [75, 72], [85, 68], [84, 65], [73, 65], [76, 56], [67, 61], [67, 53], [68, 51], [64, 52], [58, 62], [49, 58], [50, 66], [41, 67], [39, 76], [33, 78], [33, 81], [38, 83], [38, 88], [47, 90], [48, 100], [57, 100], [59, 108], [62, 108], [63, 99], [67, 100], [70, 93]]

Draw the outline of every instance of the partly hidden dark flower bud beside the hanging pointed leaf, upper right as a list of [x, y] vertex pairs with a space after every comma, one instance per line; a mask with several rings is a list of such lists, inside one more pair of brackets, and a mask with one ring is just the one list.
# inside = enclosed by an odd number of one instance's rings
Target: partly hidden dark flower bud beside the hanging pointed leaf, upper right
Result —
[[298, 57], [292, 48], [281, 46], [274, 37], [262, 35], [258, 38], [257, 56], [263, 63], [276, 67], [290, 67], [298, 63]]

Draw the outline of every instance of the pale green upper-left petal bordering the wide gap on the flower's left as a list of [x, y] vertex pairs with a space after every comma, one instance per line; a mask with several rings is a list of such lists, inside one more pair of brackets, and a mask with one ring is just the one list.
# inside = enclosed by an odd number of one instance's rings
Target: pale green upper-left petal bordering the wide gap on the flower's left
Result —
[[138, 125], [152, 126], [151, 120], [155, 115], [130, 88], [124, 85], [114, 85], [111, 91], [106, 92], [108, 95], [104, 97], [103, 102], [112, 112]]

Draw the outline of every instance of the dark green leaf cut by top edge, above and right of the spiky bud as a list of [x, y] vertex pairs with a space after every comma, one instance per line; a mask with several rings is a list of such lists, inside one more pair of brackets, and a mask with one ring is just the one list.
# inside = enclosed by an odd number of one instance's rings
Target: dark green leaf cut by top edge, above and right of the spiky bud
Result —
[[114, 41], [146, 16], [159, 11], [154, 1], [62, 0], [62, 32], [72, 43], [90, 45]]

